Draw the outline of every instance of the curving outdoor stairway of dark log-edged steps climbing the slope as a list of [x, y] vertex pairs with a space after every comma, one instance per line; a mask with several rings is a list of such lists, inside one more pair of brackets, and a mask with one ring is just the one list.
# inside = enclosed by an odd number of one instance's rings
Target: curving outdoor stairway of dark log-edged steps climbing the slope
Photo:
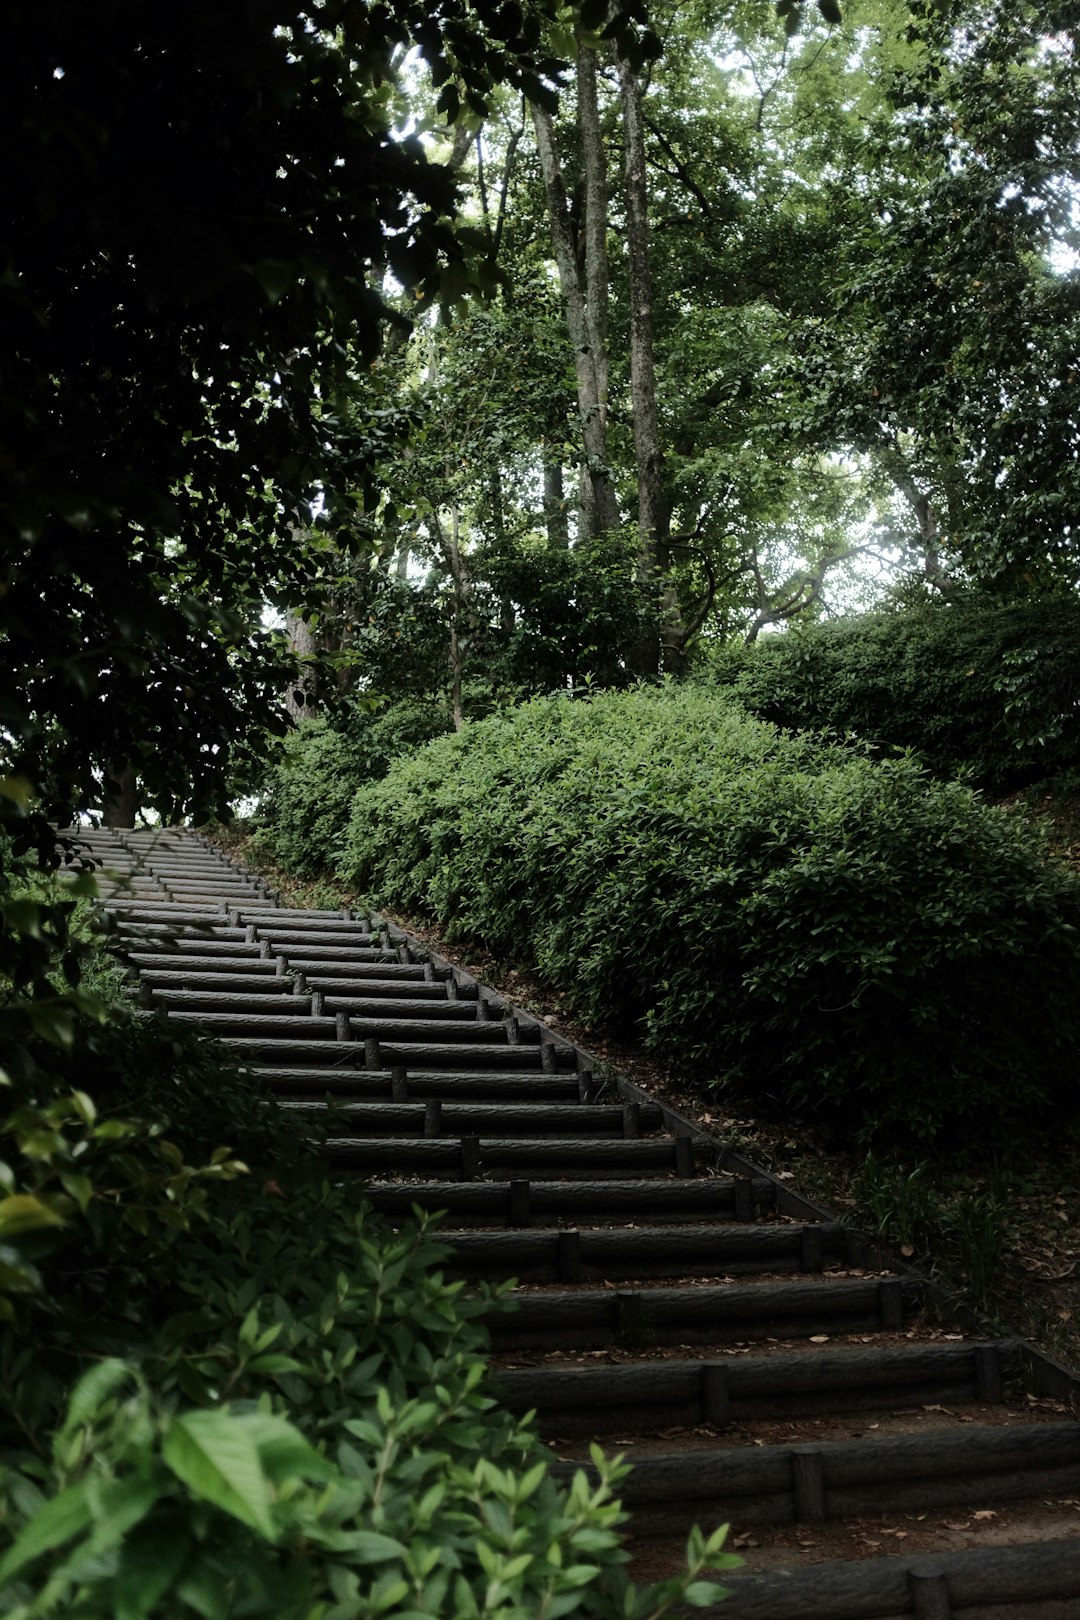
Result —
[[198, 1025], [392, 1220], [447, 1210], [502, 1400], [636, 1466], [643, 1578], [730, 1520], [717, 1620], [1080, 1620], [1080, 1385], [379, 919], [173, 829], [86, 831], [144, 1016]]

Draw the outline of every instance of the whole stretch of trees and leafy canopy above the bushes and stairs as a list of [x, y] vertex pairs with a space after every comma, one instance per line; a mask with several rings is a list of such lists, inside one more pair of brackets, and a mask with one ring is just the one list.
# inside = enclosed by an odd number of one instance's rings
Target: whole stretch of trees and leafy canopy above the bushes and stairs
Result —
[[0, 721], [53, 810], [225, 808], [298, 658], [304, 706], [460, 723], [889, 593], [1074, 588], [1064, 11], [8, 34]]

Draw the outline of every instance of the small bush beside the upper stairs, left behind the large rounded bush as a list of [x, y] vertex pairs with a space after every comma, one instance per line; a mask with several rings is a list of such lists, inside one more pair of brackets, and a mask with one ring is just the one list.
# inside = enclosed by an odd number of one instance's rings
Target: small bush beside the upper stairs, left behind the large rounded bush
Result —
[[325, 872], [359, 784], [450, 724], [439, 698], [403, 698], [374, 711], [356, 705], [334, 724], [322, 716], [304, 721], [267, 778], [254, 854], [301, 878]]

